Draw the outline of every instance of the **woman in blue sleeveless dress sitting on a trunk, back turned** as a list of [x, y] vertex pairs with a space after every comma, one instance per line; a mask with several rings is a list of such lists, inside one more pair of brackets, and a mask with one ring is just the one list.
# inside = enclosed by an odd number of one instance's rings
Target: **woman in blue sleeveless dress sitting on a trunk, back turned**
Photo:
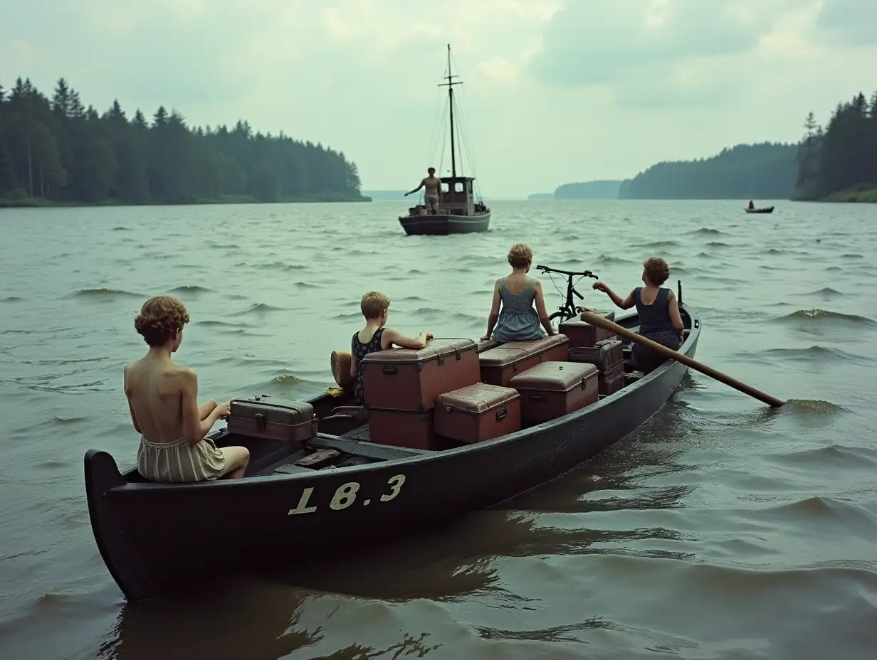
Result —
[[[549, 335], [555, 334], [545, 311], [542, 285], [527, 273], [533, 262], [533, 252], [523, 243], [511, 246], [509, 265], [511, 273], [494, 284], [493, 306], [488, 317], [488, 333], [498, 342], [524, 342], [544, 337], [542, 328]], [[503, 309], [500, 311], [500, 303]], [[536, 307], [533, 307], [533, 303]], [[540, 327], [541, 326], [541, 327]]]

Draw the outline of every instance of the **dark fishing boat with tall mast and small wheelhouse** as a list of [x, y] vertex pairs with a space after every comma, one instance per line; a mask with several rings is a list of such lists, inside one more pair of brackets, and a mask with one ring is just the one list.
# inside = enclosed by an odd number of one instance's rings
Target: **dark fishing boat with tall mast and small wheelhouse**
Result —
[[[488, 231], [490, 228], [490, 209], [478, 195], [476, 201], [475, 178], [457, 174], [457, 139], [454, 132], [453, 88], [463, 84], [454, 81], [459, 76], [451, 71], [451, 45], [447, 46], [447, 82], [439, 87], [447, 87], [448, 111], [451, 129], [451, 176], [439, 177], [442, 194], [439, 212], [427, 213], [423, 204], [416, 204], [408, 209], [407, 216], [399, 217], [399, 224], [409, 236], [428, 235], [444, 236], [447, 234], [467, 234], [474, 231]], [[462, 160], [460, 160], [462, 169]]]

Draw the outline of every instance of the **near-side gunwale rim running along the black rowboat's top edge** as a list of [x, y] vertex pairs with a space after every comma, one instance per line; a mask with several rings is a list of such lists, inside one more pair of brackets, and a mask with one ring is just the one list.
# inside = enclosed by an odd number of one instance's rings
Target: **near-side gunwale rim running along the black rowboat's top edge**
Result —
[[[684, 344], [688, 344], [688, 346], [694, 346], [697, 343], [698, 338], [700, 337], [700, 332], [702, 330], [702, 323], [700, 320], [700, 316], [697, 315], [694, 309], [689, 307], [688, 305], [682, 303], [680, 307], [685, 311], [691, 322], [690, 333], [686, 338]], [[632, 313], [630, 315], [626, 315], [620, 317], [618, 321], [623, 322], [625, 320], [637, 317], [638, 314]], [[690, 342], [690, 344], [689, 344]], [[681, 347], [680, 347], [681, 348]], [[687, 353], [685, 353], [687, 354]], [[192, 483], [181, 483], [181, 484], [164, 484], [164, 483], [155, 483], [155, 482], [131, 482], [128, 481], [125, 477], [126, 474], [136, 470], [136, 466], [132, 466], [130, 469], [125, 470], [124, 472], [118, 471], [119, 475], [122, 479], [125, 479], [124, 484], [120, 484], [118, 486], [113, 486], [111, 489], [107, 491], [110, 492], [153, 492], [153, 491], [162, 491], [162, 490], [175, 490], [180, 493], [191, 492], [191, 493], [201, 493], [204, 489], [213, 489], [213, 488], [252, 488], [258, 487], [261, 484], [266, 482], [276, 483], [278, 481], [286, 481], [289, 483], [303, 483], [306, 481], [312, 481], [315, 478], [329, 478], [332, 476], [336, 476], [339, 473], [346, 474], [348, 472], [372, 472], [376, 470], [384, 470], [386, 468], [392, 468], [397, 465], [417, 465], [426, 461], [434, 461], [434, 460], [452, 460], [453, 458], [459, 457], [461, 454], [473, 454], [475, 452], [481, 451], [493, 451], [497, 447], [502, 446], [504, 444], [509, 444], [513, 442], [517, 442], [518, 440], [526, 437], [532, 436], [537, 433], [541, 433], [550, 429], [556, 429], [560, 426], [565, 426], [567, 424], [575, 424], [581, 423], [581, 420], [587, 419], [588, 415], [595, 414], [597, 411], [605, 408], [606, 406], [621, 404], [621, 401], [624, 400], [626, 396], [629, 394], [635, 393], [638, 389], [643, 387], [648, 387], [651, 385], [652, 381], [657, 380], [660, 376], [665, 373], [668, 369], [674, 368], [675, 365], [681, 364], [676, 360], [667, 360], [662, 365], [660, 365], [654, 371], [647, 373], [643, 378], [631, 383], [623, 387], [616, 393], [610, 394], [609, 396], [605, 396], [596, 403], [593, 403], [585, 408], [581, 408], [579, 410], [574, 411], [568, 415], [563, 415], [561, 417], [557, 417], [556, 419], [549, 420], [547, 422], [540, 422], [536, 425], [527, 427], [525, 429], [519, 429], [505, 436], [499, 436], [496, 438], [491, 438], [490, 440], [483, 440], [474, 444], [467, 444], [460, 447], [453, 447], [451, 449], [440, 450], [440, 451], [424, 451], [423, 454], [414, 455], [410, 457], [404, 458], [391, 458], [389, 460], [381, 460], [376, 461], [374, 463], [360, 464], [360, 465], [344, 465], [341, 467], [331, 467], [324, 468], [322, 470], [315, 471], [313, 474], [308, 473], [296, 473], [296, 474], [267, 474], [267, 475], [253, 475], [250, 477], [246, 477], [244, 479], [215, 479], [210, 481], [196, 481]], [[616, 397], [616, 394], [621, 394], [621, 396]], [[671, 392], [671, 395], [673, 393]], [[325, 393], [317, 394], [310, 399], [306, 400], [307, 402], [317, 401], [318, 399], [326, 396]], [[667, 397], [669, 399], [669, 396]], [[665, 401], [666, 403], [666, 401]], [[662, 406], [664, 404], [661, 404]], [[208, 437], [212, 440], [216, 440], [222, 436], [231, 435], [228, 433], [228, 429], [220, 429], [214, 434], [210, 434]], [[625, 434], [625, 436], [628, 434]], [[379, 443], [371, 443], [367, 441], [353, 440], [351, 438], [346, 438], [344, 436], [335, 436], [329, 433], [318, 433], [317, 438], [323, 436], [327, 439], [332, 440], [342, 440], [349, 443], [361, 443], [368, 445], [375, 445], [377, 447], [388, 447], [390, 449], [402, 449], [405, 450], [407, 448], [399, 448], [395, 445], [387, 445], [387, 444], [379, 444]], [[621, 438], [617, 438], [620, 440]], [[614, 442], [617, 442], [614, 441]], [[109, 452], [105, 452], [102, 450], [89, 450], [86, 453], [86, 458], [93, 453], [107, 453], [111, 458], [112, 455]], [[115, 458], [113, 458], [113, 462], [115, 463]], [[118, 470], [118, 464], [117, 464]]]

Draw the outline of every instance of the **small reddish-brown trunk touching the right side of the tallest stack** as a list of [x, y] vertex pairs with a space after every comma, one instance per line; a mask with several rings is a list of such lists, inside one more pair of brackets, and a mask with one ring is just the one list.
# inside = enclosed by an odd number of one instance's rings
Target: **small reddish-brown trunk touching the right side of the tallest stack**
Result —
[[475, 383], [439, 394], [434, 415], [440, 436], [477, 443], [521, 429], [521, 395], [510, 387]]

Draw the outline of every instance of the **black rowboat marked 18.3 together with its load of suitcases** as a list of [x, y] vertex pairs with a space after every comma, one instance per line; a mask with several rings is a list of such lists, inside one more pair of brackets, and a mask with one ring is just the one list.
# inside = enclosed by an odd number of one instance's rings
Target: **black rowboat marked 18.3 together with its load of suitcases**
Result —
[[[679, 351], [693, 358], [701, 323], [681, 301], [680, 311]], [[617, 323], [637, 330], [638, 316]], [[361, 363], [367, 411], [336, 391], [307, 402], [232, 401], [229, 428], [210, 437], [247, 447], [242, 479], [154, 483], [89, 450], [101, 557], [129, 601], [253, 563], [343, 561], [572, 470], [654, 415], [688, 372], [674, 360], [634, 372], [630, 342], [578, 317], [560, 333], [371, 353]]]

